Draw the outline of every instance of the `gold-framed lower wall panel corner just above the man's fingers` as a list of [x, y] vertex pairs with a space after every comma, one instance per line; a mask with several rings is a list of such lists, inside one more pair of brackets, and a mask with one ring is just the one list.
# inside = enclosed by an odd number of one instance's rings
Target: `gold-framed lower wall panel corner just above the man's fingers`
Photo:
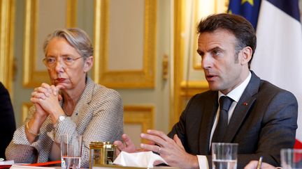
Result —
[[[124, 106], [124, 123], [125, 124], [140, 124], [142, 133], [147, 129], [154, 128], [154, 107], [153, 106]], [[146, 140], [141, 140], [146, 143]]]

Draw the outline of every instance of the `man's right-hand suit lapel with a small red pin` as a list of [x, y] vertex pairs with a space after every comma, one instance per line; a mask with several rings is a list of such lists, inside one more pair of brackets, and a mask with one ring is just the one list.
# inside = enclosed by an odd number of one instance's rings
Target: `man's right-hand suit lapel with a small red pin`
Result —
[[[251, 71], [252, 72], [252, 71]], [[252, 108], [252, 105], [256, 101], [255, 95], [257, 94], [260, 86], [260, 79], [257, 77], [254, 72], [252, 72], [252, 78], [248, 83], [243, 95], [240, 97], [229, 121], [229, 126], [227, 128], [227, 132], [224, 135], [224, 142], [230, 143], [235, 137], [238, 129], [243, 123], [245, 116]]]

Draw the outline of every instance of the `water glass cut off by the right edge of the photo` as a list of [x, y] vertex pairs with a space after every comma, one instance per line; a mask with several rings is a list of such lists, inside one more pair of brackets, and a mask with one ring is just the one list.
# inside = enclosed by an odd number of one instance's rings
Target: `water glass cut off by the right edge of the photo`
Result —
[[282, 149], [281, 166], [283, 169], [302, 168], [302, 150], [300, 149]]

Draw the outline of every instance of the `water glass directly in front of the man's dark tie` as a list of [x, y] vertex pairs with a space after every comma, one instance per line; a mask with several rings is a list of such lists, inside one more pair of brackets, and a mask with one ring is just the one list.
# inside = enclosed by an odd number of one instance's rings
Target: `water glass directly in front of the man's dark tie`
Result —
[[212, 143], [212, 168], [237, 168], [237, 143]]

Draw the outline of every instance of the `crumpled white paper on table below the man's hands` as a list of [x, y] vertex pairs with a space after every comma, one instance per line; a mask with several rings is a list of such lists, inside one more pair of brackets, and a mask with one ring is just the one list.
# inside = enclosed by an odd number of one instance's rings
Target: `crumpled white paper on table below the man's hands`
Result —
[[151, 151], [133, 153], [121, 152], [113, 163], [120, 166], [153, 168], [154, 161], [166, 163], [161, 156], [154, 154]]

